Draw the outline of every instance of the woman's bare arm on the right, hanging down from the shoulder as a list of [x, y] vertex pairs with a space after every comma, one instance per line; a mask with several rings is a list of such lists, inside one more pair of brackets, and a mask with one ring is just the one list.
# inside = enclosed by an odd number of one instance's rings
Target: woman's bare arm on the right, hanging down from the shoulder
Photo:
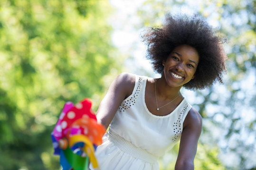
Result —
[[197, 153], [198, 139], [202, 131], [202, 118], [192, 108], [183, 122], [180, 148], [175, 170], [194, 170], [194, 159]]

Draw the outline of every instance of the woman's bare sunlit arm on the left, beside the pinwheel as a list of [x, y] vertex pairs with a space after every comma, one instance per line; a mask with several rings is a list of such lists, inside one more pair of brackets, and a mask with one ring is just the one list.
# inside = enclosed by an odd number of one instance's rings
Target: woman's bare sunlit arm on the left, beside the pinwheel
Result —
[[133, 93], [134, 85], [135, 75], [130, 73], [121, 73], [114, 79], [97, 110], [98, 123], [107, 129], [120, 104]]

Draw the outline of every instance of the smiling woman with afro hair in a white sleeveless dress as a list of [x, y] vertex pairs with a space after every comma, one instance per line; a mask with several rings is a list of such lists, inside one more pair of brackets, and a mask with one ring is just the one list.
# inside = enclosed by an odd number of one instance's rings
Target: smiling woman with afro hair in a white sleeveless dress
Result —
[[222, 39], [199, 16], [169, 15], [143, 40], [161, 78], [115, 78], [97, 110], [98, 122], [109, 130], [96, 157], [101, 170], [159, 170], [158, 158], [180, 140], [175, 170], [193, 170], [202, 119], [180, 89], [222, 83]]

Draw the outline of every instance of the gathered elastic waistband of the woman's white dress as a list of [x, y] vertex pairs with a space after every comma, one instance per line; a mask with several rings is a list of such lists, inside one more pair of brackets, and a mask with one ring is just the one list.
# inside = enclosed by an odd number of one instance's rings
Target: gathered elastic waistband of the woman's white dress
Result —
[[114, 131], [111, 129], [108, 130], [106, 136], [108, 140], [112, 142], [114, 145], [116, 145], [120, 150], [137, 159], [151, 163], [156, 162], [158, 160], [157, 156], [147, 152], [141, 147], [135, 146], [131, 142], [125, 140], [123, 137], [114, 133]]

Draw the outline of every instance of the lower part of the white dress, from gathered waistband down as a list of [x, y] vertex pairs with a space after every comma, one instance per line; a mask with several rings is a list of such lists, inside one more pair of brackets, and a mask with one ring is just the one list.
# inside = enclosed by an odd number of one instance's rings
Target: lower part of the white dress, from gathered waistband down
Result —
[[[95, 152], [100, 170], [159, 170], [158, 157], [109, 130]], [[90, 170], [94, 170], [90, 164]]]

